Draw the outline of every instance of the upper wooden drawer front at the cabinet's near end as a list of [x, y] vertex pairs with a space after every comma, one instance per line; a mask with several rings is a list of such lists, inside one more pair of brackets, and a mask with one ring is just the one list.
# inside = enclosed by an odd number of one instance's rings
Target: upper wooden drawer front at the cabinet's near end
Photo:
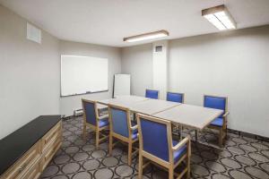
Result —
[[22, 178], [22, 175], [30, 169], [30, 166], [40, 158], [40, 143], [36, 143], [23, 155], [4, 175], [5, 179]]

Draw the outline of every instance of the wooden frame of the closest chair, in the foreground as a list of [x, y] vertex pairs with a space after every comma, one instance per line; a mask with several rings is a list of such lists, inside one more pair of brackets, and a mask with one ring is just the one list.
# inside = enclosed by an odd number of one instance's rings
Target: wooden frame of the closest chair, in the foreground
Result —
[[[167, 136], [168, 136], [168, 144], [169, 144], [169, 162], [165, 161], [161, 158], [157, 158], [155, 156], [153, 156], [152, 154], [146, 152], [143, 150], [143, 135], [141, 134], [141, 122], [140, 122], [140, 118], [145, 118], [147, 120], [150, 120], [152, 122], [158, 122], [161, 124], [166, 124], [167, 126]], [[173, 179], [174, 175], [177, 175], [177, 179], [178, 178], [182, 178], [183, 175], [187, 174], [187, 178], [190, 177], [190, 156], [191, 156], [191, 141], [190, 141], [190, 137], [187, 136], [184, 140], [180, 141], [176, 146], [173, 147], [173, 143], [172, 143], [172, 133], [171, 133], [171, 122], [166, 121], [166, 120], [162, 120], [160, 118], [157, 117], [152, 117], [149, 115], [142, 115], [142, 114], [137, 114], [136, 116], [136, 120], [138, 123], [138, 132], [139, 132], [139, 164], [138, 164], [138, 178], [142, 179], [143, 177], [143, 168], [148, 166], [149, 163], [146, 163], [143, 165], [143, 158], [147, 158], [149, 160], [151, 160], [154, 164], [157, 164], [157, 166], [162, 166], [163, 168], [165, 168], [166, 170], [168, 170], [169, 172], [169, 179]], [[187, 145], [187, 153], [184, 154], [179, 160], [178, 162], [175, 164], [174, 163], [174, 155], [173, 152], [180, 149], [182, 146]], [[186, 168], [180, 173], [175, 173], [174, 169], [181, 163], [185, 161], [186, 163]]]

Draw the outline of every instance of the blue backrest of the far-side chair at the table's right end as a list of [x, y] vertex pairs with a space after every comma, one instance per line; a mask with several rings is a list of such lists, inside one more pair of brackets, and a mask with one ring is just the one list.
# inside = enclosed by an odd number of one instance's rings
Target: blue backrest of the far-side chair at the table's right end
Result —
[[226, 98], [204, 96], [204, 107], [223, 110], [223, 113], [220, 115], [222, 117], [226, 111]]

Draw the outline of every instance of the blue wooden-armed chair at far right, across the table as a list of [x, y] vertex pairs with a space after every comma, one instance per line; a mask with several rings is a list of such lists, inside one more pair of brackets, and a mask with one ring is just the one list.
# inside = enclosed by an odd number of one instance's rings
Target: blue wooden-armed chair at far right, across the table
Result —
[[229, 115], [227, 107], [228, 98], [226, 97], [213, 97], [204, 96], [204, 107], [215, 108], [223, 110], [223, 113], [213, 120], [208, 126], [220, 131], [219, 145], [222, 147], [223, 139], [227, 136], [227, 115]]

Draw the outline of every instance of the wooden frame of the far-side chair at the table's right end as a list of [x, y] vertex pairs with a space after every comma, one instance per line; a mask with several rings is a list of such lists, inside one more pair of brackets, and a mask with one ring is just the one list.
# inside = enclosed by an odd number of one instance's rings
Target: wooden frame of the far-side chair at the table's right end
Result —
[[[212, 124], [208, 125], [208, 128], [218, 130], [220, 132], [219, 134], [219, 146], [220, 148], [223, 147], [224, 139], [227, 138], [227, 115], [230, 113], [228, 112], [228, 98], [227, 97], [220, 97], [220, 96], [213, 96], [213, 95], [204, 95], [205, 97], [213, 97], [213, 98], [225, 98], [225, 111], [223, 117], [223, 125], [222, 126], [215, 126]], [[204, 98], [203, 98], [203, 107], [204, 107]], [[197, 135], [197, 132], [196, 132]], [[197, 137], [196, 137], [197, 138]]]

